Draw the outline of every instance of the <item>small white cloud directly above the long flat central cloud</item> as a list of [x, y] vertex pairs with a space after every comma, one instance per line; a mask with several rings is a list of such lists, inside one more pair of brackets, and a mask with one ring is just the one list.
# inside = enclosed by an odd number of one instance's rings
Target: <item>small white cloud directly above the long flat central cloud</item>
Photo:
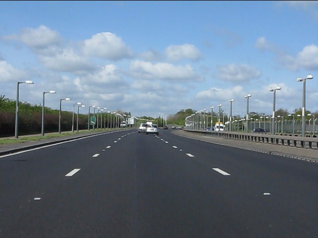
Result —
[[165, 49], [165, 55], [168, 60], [177, 61], [188, 59], [197, 61], [201, 59], [200, 51], [193, 45], [184, 44], [181, 46], [168, 46]]

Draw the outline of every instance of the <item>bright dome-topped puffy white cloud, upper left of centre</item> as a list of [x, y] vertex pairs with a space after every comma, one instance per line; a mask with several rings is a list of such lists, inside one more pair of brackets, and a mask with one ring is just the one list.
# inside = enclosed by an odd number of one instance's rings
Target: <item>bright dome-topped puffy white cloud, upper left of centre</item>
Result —
[[121, 38], [110, 32], [98, 33], [85, 40], [82, 51], [88, 56], [108, 60], [120, 60], [133, 56], [132, 51]]

